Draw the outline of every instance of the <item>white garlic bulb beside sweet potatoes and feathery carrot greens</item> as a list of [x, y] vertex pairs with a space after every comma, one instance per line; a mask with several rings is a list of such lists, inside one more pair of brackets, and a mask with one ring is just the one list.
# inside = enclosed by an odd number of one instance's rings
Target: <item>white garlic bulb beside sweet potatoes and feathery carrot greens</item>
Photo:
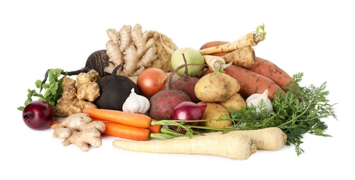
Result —
[[267, 89], [265, 89], [265, 91], [263, 93], [252, 94], [251, 96], [249, 96], [247, 98], [247, 100], [245, 100], [245, 102], [247, 102], [248, 107], [250, 107], [251, 105], [254, 105], [256, 107], [256, 113], [260, 113], [261, 109], [258, 108], [258, 105], [261, 103], [261, 100], [263, 100], [265, 103], [265, 107], [267, 109], [267, 114], [270, 114], [273, 111], [273, 109], [272, 109], [272, 102], [268, 98], [268, 95], [269, 95], [269, 91], [267, 91]]

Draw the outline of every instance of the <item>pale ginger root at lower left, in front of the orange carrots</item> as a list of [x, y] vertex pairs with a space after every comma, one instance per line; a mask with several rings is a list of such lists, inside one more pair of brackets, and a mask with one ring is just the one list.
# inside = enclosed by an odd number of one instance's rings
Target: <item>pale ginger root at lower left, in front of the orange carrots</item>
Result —
[[92, 147], [100, 147], [101, 132], [105, 130], [105, 124], [101, 121], [92, 121], [88, 114], [77, 113], [68, 116], [56, 129], [54, 138], [64, 138], [63, 145], [75, 144], [84, 152]]

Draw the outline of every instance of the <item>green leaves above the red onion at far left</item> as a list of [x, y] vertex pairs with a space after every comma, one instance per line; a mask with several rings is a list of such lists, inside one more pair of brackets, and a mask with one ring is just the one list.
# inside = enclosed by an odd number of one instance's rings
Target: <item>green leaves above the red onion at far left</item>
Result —
[[58, 99], [62, 96], [62, 79], [60, 78], [61, 73], [63, 73], [63, 69], [49, 69], [48, 76], [49, 82], [45, 83], [42, 80], [37, 80], [35, 82], [35, 86], [42, 91], [45, 89], [44, 94], [38, 93], [35, 89], [27, 89], [27, 99], [24, 102], [24, 106], [17, 107], [20, 111], [24, 110], [24, 107], [33, 101], [33, 97], [37, 97], [39, 100], [47, 101], [52, 107], [56, 106]]

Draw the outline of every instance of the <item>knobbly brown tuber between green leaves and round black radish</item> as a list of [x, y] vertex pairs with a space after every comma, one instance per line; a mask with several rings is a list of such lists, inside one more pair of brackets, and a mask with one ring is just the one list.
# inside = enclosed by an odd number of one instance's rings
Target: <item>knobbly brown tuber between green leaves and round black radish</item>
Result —
[[76, 81], [65, 76], [62, 82], [63, 94], [56, 104], [56, 116], [70, 116], [80, 113], [83, 108], [97, 108], [94, 100], [100, 96], [99, 73], [91, 70], [79, 73]]

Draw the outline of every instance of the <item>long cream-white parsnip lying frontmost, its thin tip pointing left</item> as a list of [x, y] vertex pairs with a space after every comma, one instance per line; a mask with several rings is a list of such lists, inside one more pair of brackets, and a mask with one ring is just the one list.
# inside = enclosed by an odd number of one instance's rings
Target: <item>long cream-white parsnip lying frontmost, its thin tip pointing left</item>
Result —
[[212, 154], [245, 160], [256, 152], [256, 145], [244, 134], [216, 134], [181, 137], [176, 140], [124, 141], [115, 140], [113, 146], [123, 150], [154, 153]]

